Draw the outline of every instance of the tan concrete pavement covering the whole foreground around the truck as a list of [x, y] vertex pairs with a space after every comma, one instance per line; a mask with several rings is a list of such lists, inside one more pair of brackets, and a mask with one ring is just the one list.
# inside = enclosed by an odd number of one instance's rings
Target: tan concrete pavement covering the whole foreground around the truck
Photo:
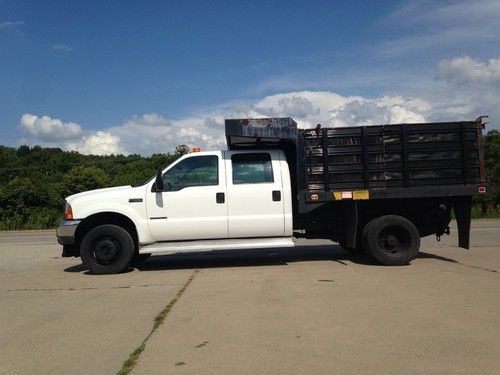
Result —
[[54, 231], [0, 232], [0, 373], [497, 374], [500, 220], [456, 237], [404, 267], [299, 240], [95, 276]]

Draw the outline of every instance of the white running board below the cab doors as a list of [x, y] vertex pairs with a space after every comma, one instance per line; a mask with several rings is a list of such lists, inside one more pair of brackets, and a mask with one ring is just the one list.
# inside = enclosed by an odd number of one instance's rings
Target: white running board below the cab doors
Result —
[[268, 249], [293, 247], [292, 237], [230, 238], [222, 240], [156, 242], [142, 245], [139, 254], [175, 254], [212, 250]]

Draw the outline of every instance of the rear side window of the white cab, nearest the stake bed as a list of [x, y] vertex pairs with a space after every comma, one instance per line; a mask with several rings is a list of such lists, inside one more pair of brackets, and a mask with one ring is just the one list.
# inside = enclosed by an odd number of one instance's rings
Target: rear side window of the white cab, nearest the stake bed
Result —
[[235, 154], [231, 156], [231, 164], [235, 185], [274, 182], [269, 154]]

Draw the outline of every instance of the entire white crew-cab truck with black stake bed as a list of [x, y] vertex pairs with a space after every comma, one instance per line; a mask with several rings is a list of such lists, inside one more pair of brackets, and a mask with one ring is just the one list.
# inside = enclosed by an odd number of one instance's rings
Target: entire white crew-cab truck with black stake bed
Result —
[[290, 247], [294, 237], [407, 264], [420, 237], [449, 233], [453, 208], [468, 248], [471, 197], [486, 190], [483, 128], [226, 120], [227, 151], [184, 155], [141, 186], [67, 197], [57, 238], [95, 274], [151, 254]]

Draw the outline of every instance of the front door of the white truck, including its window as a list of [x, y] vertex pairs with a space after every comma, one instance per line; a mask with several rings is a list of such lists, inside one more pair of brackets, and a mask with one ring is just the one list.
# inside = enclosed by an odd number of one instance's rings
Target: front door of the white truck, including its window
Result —
[[163, 174], [164, 191], [147, 192], [156, 241], [226, 238], [227, 201], [221, 152], [192, 154]]

